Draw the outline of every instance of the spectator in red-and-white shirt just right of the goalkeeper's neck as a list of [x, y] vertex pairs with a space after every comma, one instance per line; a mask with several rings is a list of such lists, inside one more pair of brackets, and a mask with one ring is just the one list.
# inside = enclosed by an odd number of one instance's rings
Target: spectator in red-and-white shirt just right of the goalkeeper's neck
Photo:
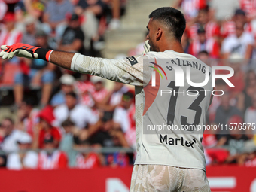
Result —
[[211, 58], [218, 58], [220, 48], [214, 38], [206, 38], [206, 31], [203, 27], [197, 29], [198, 39], [190, 44], [188, 53], [197, 56], [200, 51], [206, 50]]

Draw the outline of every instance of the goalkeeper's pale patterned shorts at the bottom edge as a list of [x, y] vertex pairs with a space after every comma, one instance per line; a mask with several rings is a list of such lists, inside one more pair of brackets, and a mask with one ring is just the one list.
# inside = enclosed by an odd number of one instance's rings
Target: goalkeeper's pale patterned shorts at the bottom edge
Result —
[[206, 172], [175, 166], [135, 165], [130, 192], [209, 192]]

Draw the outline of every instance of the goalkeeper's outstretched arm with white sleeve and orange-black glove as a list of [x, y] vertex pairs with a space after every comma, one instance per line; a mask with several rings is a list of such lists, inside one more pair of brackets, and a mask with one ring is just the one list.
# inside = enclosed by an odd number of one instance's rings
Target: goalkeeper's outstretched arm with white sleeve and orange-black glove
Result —
[[0, 56], [3, 59], [11, 59], [14, 55], [29, 59], [44, 59], [75, 72], [97, 75], [123, 84], [143, 85], [143, 58], [146, 56], [127, 59], [102, 59], [78, 53], [47, 50], [28, 44], [4, 45], [1, 46], [1, 49]]

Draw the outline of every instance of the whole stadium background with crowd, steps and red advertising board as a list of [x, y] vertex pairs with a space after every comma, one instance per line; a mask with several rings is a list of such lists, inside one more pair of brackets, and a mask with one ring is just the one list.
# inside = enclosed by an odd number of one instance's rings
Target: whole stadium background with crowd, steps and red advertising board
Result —
[[[215, 97], [208, 123], [256, 123], [256, 1], [56, 2], [0, 0], [0, 44], [109, 59], [137, 55], [148, 14], [172, 5], [187, 18], [186, 53], [235, 70], [235, 88], [216, 82], [229, 94]], [[45, 62], [0, 59], [2, 191], [128, 191], [136, 155], [133, 94], [133, 87]], [[256, 191], [254, 133], [206, 132], [212, 191]]]

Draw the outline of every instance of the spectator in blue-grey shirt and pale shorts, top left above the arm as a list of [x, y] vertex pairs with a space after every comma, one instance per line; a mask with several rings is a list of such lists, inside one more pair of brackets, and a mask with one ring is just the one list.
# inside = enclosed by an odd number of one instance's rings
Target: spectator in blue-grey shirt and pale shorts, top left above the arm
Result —
[[66, 28], [66, 14], [72, 14], [73, 5], [69, 0], [50, 0], [47, 3], [43, 17], [43, 29], [47, 34], [56, 32], [56, 39], [59, 40]]

